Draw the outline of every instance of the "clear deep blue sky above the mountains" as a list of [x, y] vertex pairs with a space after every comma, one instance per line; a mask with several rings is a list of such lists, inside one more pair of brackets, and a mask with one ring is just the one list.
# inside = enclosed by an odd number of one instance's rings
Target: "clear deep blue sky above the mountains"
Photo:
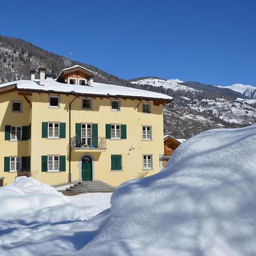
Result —
[[0, 34], [124, 79], [256, 86], [256, 1], [14, 1]]

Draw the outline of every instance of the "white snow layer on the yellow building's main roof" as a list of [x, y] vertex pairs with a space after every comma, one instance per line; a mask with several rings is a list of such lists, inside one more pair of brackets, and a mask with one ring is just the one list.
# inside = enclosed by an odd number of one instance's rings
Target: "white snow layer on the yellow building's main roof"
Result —
[[162, 93], [149, 92], [130, 87], [101, 84], [93, 82], [93, 86], [70, 85], [57, 82], [53, 79], [46, 79], [45, 85], [39, 85], [39, 80], [18, 80], [0, 85], [1, 88], [15, 85], [19, 91], [31, 92], [48, 92], [48, 93], [69, 93], [69, 94], [84, 94], [85, 96], [102, 96], [102, 97], [126, 97], [126, 98], [145, 98], [149, 100], [171, 101], [172, 97]]

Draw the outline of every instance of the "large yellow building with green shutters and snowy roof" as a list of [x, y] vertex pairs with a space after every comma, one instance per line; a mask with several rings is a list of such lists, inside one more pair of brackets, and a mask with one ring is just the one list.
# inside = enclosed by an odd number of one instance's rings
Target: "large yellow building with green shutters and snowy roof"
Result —
[[162, 163], [163, 105], [171, 97], [93, 81], [78, 65], [57, 79], [0, 85], [0, 177], [19, 171], [48, 184], [101, 180], [112, 186]]

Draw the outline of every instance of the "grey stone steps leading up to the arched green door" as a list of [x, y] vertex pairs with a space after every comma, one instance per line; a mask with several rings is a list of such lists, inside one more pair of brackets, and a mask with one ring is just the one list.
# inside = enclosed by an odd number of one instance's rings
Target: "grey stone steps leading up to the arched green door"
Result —
[[74, 192], [113, 192], [115, 190], [114, 187], [111, 187], [109, 184], [106, 184], [100, 180], [92, 180], [92, 181], [79, 181], [69, 188], [66, 188], [66, 191], [74, 191]]

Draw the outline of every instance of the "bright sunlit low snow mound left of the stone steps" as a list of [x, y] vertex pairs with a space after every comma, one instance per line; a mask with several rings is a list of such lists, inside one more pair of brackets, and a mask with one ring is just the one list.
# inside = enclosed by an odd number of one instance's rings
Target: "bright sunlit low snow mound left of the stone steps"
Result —
[[[84, 197], [84, 202], [81, 200]], [[87, 196], [90, 198], [89, 196]], [[105, 205], [109, 207], [108, 200]], [[31, 223], [54, 223], [60, 221], [86, 220], [101, 210], [85, 195], [64, 196], [48, 184], [32, 177], [17, 177], [12, 184], [0, 188], [0, 220]]]

